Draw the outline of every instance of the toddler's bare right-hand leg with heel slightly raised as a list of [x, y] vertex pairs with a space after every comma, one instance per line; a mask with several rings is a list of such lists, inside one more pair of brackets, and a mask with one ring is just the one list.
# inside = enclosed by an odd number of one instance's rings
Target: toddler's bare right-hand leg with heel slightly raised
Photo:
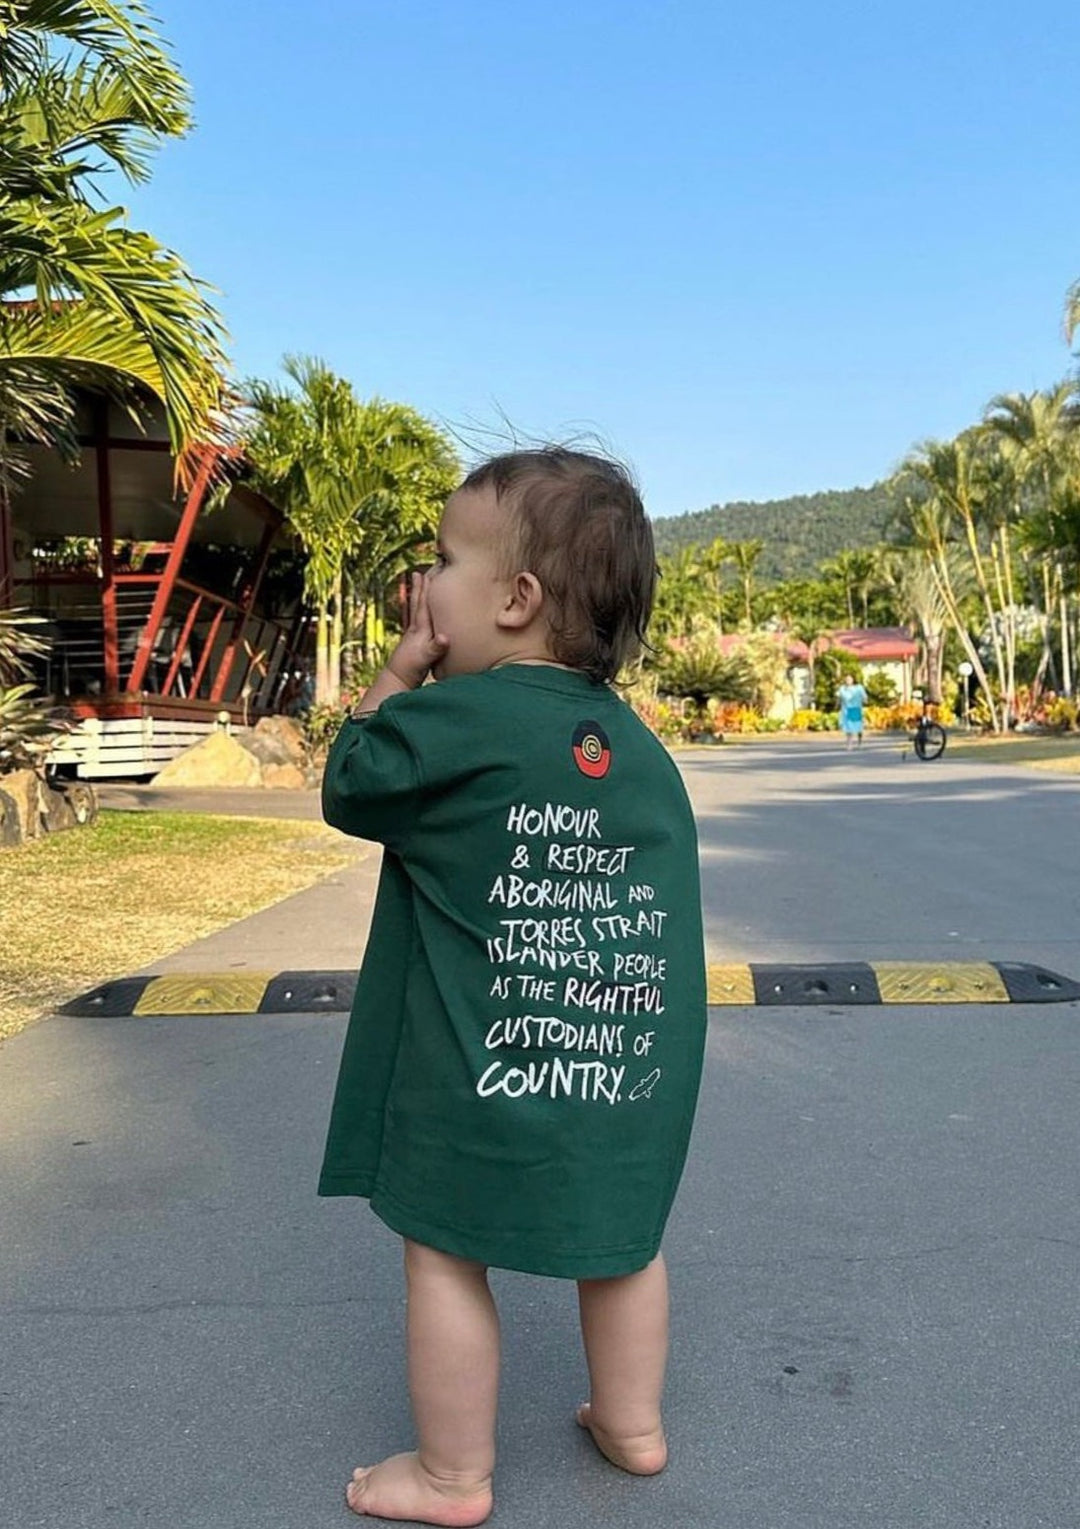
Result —
[[578, 1408], [597, 1448], [624, 1471], [667, 1465], [661, 1394], [667, 1368], [667, 1269], [662, 1255], [618, 1280], [580, 1280], [590, 1399]]

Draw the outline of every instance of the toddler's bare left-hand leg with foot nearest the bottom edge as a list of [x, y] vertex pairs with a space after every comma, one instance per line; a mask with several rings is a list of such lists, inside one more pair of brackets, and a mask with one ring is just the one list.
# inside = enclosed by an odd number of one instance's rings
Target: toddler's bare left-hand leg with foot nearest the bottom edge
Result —
[[353, 1471], [346, 1500], [375, 1518], [467, 1526], [491, 1512], [499, 1315], [483, 1264], [405, 1240], [408, 1391], [419, 1448]]

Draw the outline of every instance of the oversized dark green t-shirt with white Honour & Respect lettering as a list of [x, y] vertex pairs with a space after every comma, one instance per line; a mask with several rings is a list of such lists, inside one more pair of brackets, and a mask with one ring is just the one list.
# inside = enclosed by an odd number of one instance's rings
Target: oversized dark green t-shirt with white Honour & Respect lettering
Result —
[[664, 748], [584, 674], [508, 665], [346, 722], [323, 810], [385, 855], [320, 1194], [497, 1268], [644, 1268], [705, 1038], [695, 823]]

